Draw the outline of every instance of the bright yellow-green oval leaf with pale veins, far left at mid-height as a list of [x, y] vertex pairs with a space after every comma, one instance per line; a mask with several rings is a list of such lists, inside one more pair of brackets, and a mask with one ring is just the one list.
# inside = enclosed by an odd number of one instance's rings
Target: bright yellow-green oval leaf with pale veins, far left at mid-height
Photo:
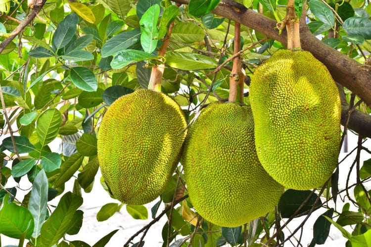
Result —
[[36, 123], [36, 133], [42, 147], [57, 137], [61, 124], [62, 115], [57, 109], [48, 109], [41, 114]]

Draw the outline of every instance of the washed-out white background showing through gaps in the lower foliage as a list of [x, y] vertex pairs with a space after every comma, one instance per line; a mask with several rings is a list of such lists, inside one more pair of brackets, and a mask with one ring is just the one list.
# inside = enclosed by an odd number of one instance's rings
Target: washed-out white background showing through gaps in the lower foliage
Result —
[[[357, 145], [357, 137], [355, 135], [351, 135], [350, 138], [348, 139], [348, 150], [352, 150], [354, 147]], [[367, 140], [366, 146], [371, 150], [371, 140]], [[347, 153], [342, 152], [340, 154], [339, 160], [341, 160], [343, 157], [345, 157]], [[364, 152], [362, 154], [362, 161], [370, 159], [371, 155], [367, 154]], [[343, 163], [340, 165], [340, 179], [339, 183], [342, 184], [344, 183], [347, 173], [349, 171], [349, 165], [351, 162], [353, 162], [355, 158], [355, 153], [354, 155], [350, 156], [347, 159], [346, 163]], [[96, 176], [96, 178], [100, 177], [100, 173]], [[355, 174], [352, 174], [352, 180], [355, 181]], [[65, 188], [65, 191], [72, 191], [73, 188], [73, 179], [71, 179]], [[351, 184], [351, 183], [350, 183]], [[27, 181], [27, 178], [22, 178], [21, 180], [21, 188], [30, 188], [31, 184]], [[7, 184], [6, 187], [12, 186], [10, 183]], [[341, 187], [345, 186], [340, 186]], [[371, 184], [367, 184], [367, 187], [371, 189]], [[351, 191], [352, 192], [352, 191]], [[27, 193], [18, 191], [17, 194], [17, 199], [22, 200], [23, 195], [22, 193]], [[352, 193], [351, 193], [352, 194]], [[50, 202], [50, 204], [57, 204], [57, 200], [60, 197], [54, 199], [53, 201]], [[81, 240], [84, 241], [90, 245], [95, 244], [99, 239], [104, 237], [106, 234], [110, 233], [113, 230], [119, 229], [119, 231], [111, 238], [110, 242], [106, 245], [109, 247], [116, 247], [116, 246], [123, 246], [124, 243], [134, 234], [136, 233], [141, 227], [144, 225], [148, 224], [150, 222], [151, 216], [150, 216], [150, 208], [154, 203], [146, 205], [148, 208], [148, 215], [149, 219], [147, 220], [134, 220], [129, 213], [127, 213], [125, 206], [121, 208], [120, 212], [115, 213], [111, 218], [109, 218], [106, 221], [98, 222], [96, 219], [96, 214], [99, 211], [100, 207], [107, 204], [107, 203], [118, 203], [118, 201], [110, 198], [107, 193], [103, 190], [101, 187], [99, 180], [96, 179], [93, 190], [91, 193], [84, 193], [83, 192], [83, 198], [84, 198], [84, 203], [80, 207], [81, 210], [84, 211], [84, 221], [83, 221], [83, 226], [80, 230], [80, 232], [77, 235], [74, 236], [66, 236], [66, 240], [72, 241], [72, 240]], [[341, 210], [341, 207], [343, 206], [345, 202], [342, 202], [340, 199], [338, 199], [337, 203], [337, 209]], [[160, 208], [159, 212], [163, 209]], [[313, 213], [313, 215], [309, 218], [308, 222], [305, 224], [302, 237], [301, 237], [301, 243], [302, 246], [307, 246], [311, 242], [313, 238], [313, 224], [316, 221], [317, 217], [322, 214], [324, 210], [317, 210]], [[303, 216], [305, 217], [305, 216]], [[290, 231], [293, 231], [297, 225], [299, 225], [303, 217], [297, 218], [293, 220], [290, 224], [288, 229], [285, 230], [285, 236], [288, 236], [290, 234]], [[162, 246], [163, 240], [161, 237], [161, 231], [162, 227], [164, 226], [166, 222], [166, 217], [163, 217], [160, 219], [159, 222], [154, 224], [150, 230], [148, 231], [146, 237], [144, 238], [145, 241], [145, 247], [160, 247]], [[349, 231], [351, 231], [350, 228], [347, 228]], [[138, 238], [134, 240], [134, 243], [139, 241], [139, 238], [141, 235], [139, 235]], [[296, 239], [300, 239], [300, 231], [295, 234]], [[337, 230], [334, 226], [331, 226], [330, 230], [330, 235], [329, 238], [327, 239], [325, 245], [322, 245], [324, 247], [333, 247], [333, 246], [345, 246], [346, 240], [342, 237], [341, 233], [339, 230]], [[2, 246], [7, 246], [7, 245], [16, 245], [18, 246], [18, 241], [15, 239], [8, 238], [6, 236], [1, 235], [1, 243]], [[296, 246], [297, 242], [293, 241], [292, 243], [287, 242], [285, 246]]]

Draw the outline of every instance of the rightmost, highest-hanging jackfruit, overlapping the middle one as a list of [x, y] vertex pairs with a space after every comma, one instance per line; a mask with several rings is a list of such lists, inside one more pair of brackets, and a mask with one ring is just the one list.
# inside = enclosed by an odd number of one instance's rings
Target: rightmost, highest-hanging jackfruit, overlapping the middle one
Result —
[[324, 185], [340, 145], [341, 105], [324, 64], [310, 52], [278, 50], [250, 84], [258, 157], [286, 188]]

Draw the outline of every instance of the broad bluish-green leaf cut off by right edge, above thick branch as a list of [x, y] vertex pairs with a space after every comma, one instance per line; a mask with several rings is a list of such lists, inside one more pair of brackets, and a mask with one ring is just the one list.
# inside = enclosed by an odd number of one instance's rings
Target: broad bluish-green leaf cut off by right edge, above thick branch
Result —
[[364, 17], [350, 17], [344, 21], [343, 30], [348, 35], [359, 35], [371, 39], [371, 20]]

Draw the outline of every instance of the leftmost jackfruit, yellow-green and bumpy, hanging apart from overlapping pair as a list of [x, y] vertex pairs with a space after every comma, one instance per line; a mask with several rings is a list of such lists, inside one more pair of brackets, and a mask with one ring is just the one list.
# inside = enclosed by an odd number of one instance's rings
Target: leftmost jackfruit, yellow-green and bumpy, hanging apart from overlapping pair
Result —
[[130, 205], [146, 204], [164, 190], [185, 140], [180, 106], [161, 92], [138, 89], [118, 98], [98, 131], [98, 160], [112, 194]]

